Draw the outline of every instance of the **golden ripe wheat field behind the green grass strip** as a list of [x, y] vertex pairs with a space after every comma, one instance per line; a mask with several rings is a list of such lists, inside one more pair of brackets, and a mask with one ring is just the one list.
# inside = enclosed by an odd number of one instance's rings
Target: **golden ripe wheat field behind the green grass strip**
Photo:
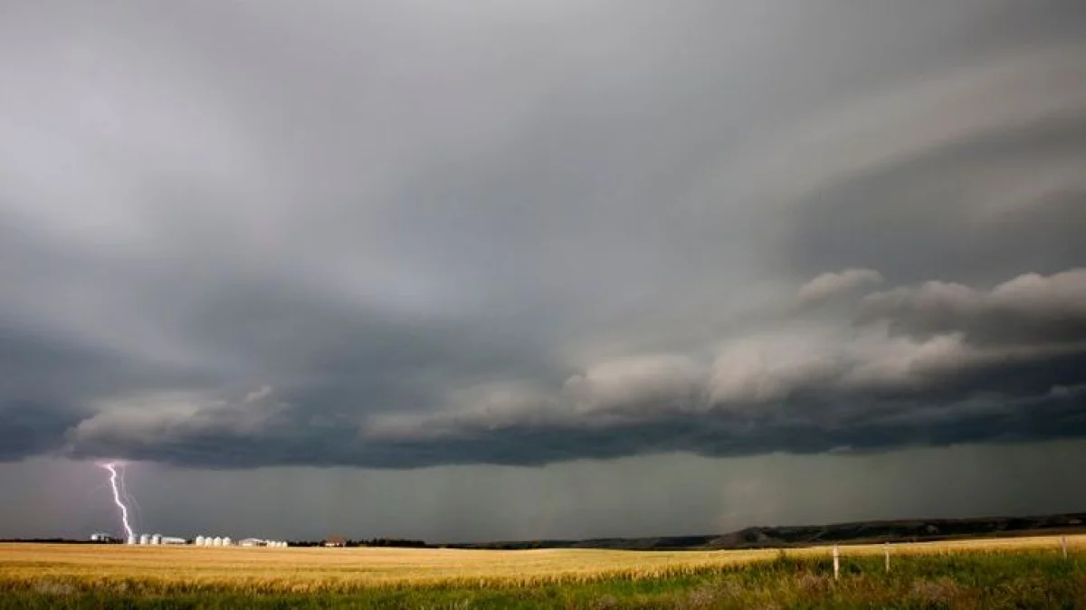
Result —
[[[1066, 537], [1086, 549], [1086, 535]], [[895, 544], [893, 555], [1060, 548], [1059, 536]], [[842, 546], [841, 556], [883, 554], [883, 545]], [[369, 586], [539, 585], [694, 573], [773, 559], [778, 550], [622, 551], [592, 549], [460, 550], [409, 548], [206, 548], [126, 545], [0, 545], [0, 580], [62, 579], [88, 585], [118, 581], [169, 587], [258, 587], [313, 592]], [[830, 556], [830, 547], [790, 549]]]

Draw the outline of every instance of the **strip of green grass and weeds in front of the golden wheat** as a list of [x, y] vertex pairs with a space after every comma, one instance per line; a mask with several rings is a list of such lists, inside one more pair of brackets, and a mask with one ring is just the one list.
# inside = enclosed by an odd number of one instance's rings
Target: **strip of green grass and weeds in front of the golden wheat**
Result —
[[1086, 608], [1086, 558], [1058, 551], [964, 551], [842, 560], [790, 558], [707, 568], [667, 579], [467, 587], [380, 586], [313, 594], [252, 593], [229, 586], [122, 580], [88, 585], [61, 577], [7, 581], [0, 609], [176, 608]]

